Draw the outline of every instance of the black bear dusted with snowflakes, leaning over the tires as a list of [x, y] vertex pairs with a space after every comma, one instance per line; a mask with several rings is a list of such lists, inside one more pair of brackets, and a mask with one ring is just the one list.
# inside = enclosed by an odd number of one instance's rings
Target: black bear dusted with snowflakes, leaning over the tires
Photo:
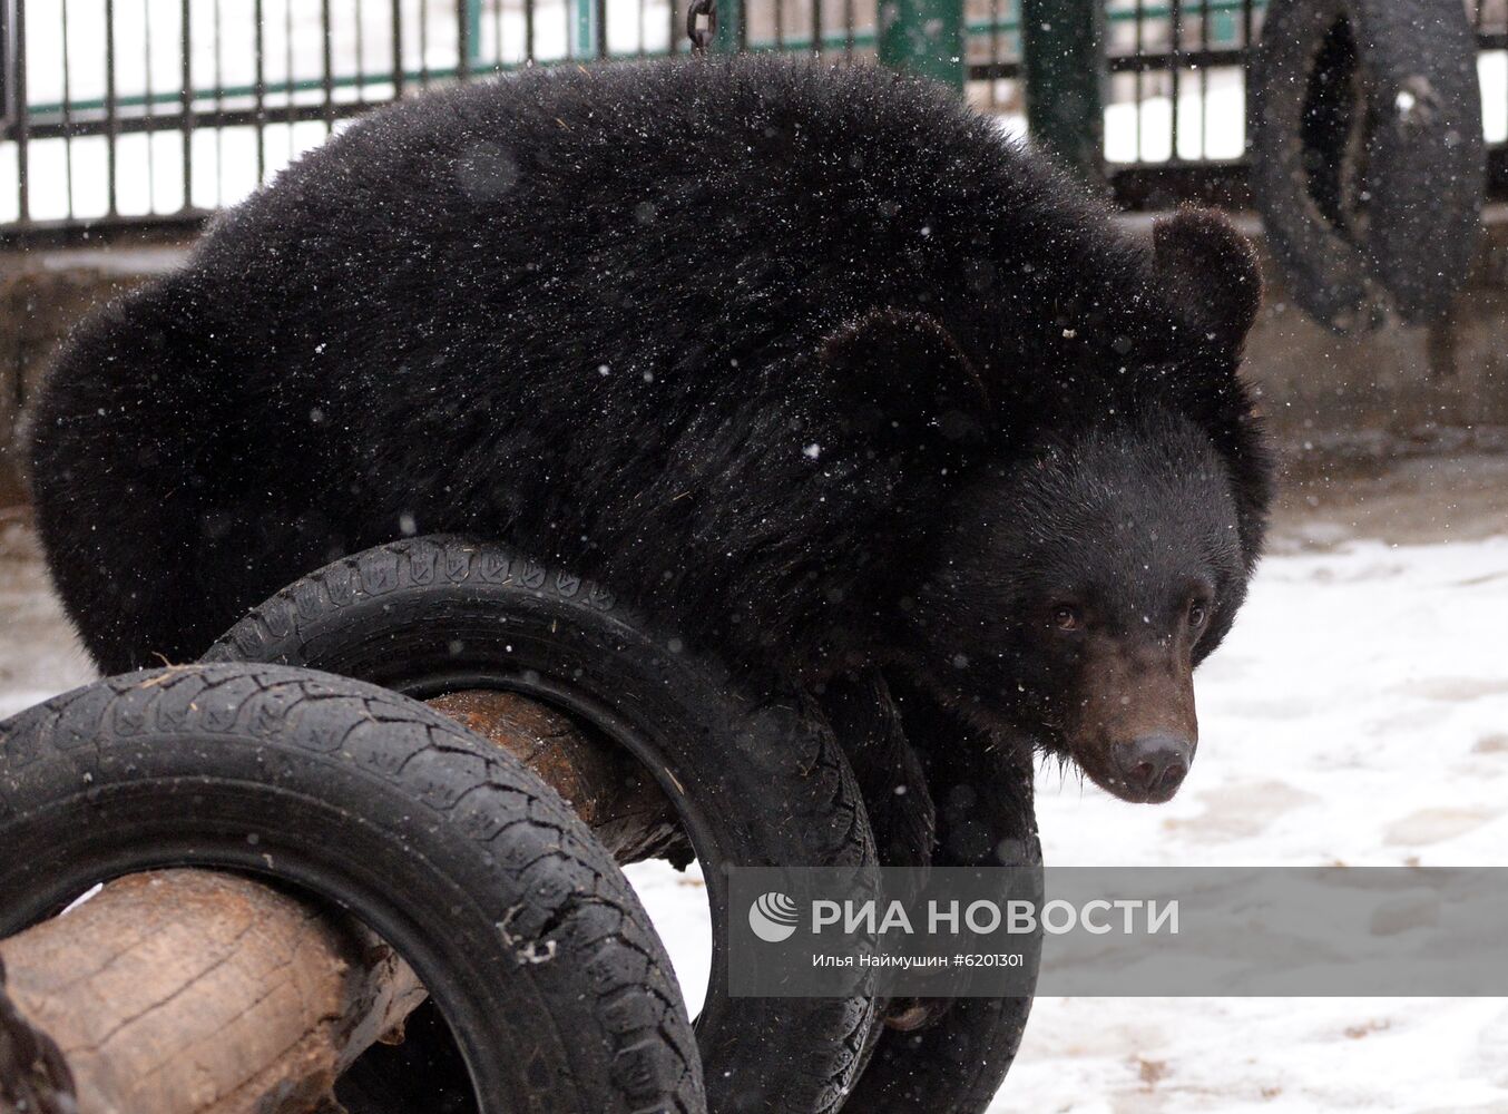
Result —
[[83, 326], [38, 523], [109, 672], [458, 532], [1161, 800], [1262, 540], [1258, 301], [1223, 219], [1148, 246], [912, 78], [526, 72], [366, 116]]

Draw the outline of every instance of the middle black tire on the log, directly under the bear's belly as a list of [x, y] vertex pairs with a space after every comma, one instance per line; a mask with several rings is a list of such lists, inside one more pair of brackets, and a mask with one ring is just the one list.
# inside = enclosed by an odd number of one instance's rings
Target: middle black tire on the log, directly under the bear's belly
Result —
[[713, 950], [695, 1028], [709, 1105], [843, 1103], [875, 1019], [867, 974], [847, 999], [727, 995], [724, 867], [875, 867], [854, 775], [807, 701], [734, 684], [599, 585], [452, 537], [335, 561], [253, 609], [205, 660], [314, 666], [419, 698], [508, 689], [626, 746], [704, 864]]

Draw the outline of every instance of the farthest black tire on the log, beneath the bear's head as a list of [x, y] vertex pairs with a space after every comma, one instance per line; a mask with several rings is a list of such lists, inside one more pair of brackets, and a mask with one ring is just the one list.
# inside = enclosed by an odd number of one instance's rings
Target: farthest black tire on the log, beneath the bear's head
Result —
[[[890, 687], [936, 802], [932, 864], [1041, 870], [1030, 748], [1003, 751], [908, 684], [891, 681]], [[1030, 960], [1034, 983], [1041, 951]], [[884, 1030], [854, 1085], [854, 1111], [983, 1114], [991, 1105], [1021, 1046], [1031, 998], [955, 998], [929, 1005], [938, 1016], [926, 1028]]]

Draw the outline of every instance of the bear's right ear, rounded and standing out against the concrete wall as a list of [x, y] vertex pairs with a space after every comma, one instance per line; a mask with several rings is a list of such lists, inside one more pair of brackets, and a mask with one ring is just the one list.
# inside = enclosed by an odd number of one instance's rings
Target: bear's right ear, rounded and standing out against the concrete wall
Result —
[[1240, 353], [1262, 308], [1256, 252], [1214, 210], [1182, 210], [1152, 226], [1155, 282], [1205, 342]]

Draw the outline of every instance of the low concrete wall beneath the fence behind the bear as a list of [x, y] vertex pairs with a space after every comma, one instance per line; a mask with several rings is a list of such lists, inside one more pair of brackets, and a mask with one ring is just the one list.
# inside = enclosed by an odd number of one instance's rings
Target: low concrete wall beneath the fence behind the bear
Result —
[[[1255, 222], [1246, 231], [1261, 241]], [[182, 250], [0, 255], [0, 507], [23, 497], [17, 419], [56, 344], [89, 308], [175, 265]], [[1508, 452], [1508, 207], [1487, 214], [1472, 276], [1430, 329], [1338, 338], [1270, 277], [1247, 368], [1298, 484], [1411, 454]]]

